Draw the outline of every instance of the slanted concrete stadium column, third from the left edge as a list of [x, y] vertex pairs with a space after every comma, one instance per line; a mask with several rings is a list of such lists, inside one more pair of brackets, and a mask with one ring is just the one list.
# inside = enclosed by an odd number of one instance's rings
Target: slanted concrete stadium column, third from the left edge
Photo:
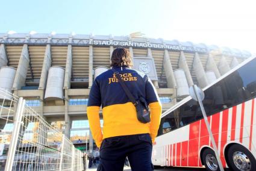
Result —
[[48, 70], [52, 65], [52, 58], [51, 58], [51, 45], [46, 45], [45, 49], [45, 57], [43, 58], [43, 67], [40, 76], [39, 88], [38, 89], [45, 89], [46, 81], [48, 76]]

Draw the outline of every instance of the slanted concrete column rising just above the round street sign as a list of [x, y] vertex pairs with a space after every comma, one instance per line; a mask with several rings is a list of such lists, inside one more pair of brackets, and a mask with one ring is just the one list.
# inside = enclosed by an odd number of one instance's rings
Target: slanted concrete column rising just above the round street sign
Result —
[[200, 87], [204, 88], [208, 85], [207, 76], [205, 75], [204, 67], [198, 55], [198, 52], [195, 53], [195, 58], [193, 61], [193, 69], [196, 73], [196, 78], [198, 79], [198, 84]]

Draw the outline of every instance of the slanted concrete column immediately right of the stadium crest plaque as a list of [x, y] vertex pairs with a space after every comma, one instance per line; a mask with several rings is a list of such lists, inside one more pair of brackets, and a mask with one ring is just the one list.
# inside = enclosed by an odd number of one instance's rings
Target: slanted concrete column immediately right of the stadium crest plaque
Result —
[[176, 87], [177, 84], [176, 84], [175, 76], [172, 69], [172, 63], [170, 63], [169, 52], [167, 51], [167, 49], [164, 50], [163, 66], [164, 66], [164, 72], [167, 79], [167, 87], [168, 88]]

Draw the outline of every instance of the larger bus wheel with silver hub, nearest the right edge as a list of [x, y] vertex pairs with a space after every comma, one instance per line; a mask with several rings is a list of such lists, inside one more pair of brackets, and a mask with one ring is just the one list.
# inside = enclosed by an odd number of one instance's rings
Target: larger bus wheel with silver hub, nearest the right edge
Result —
[[241, 145], [233, 145], [228, 149], [228, 161], [235, 171], [256, 170], [256, 160], [248, 149]]

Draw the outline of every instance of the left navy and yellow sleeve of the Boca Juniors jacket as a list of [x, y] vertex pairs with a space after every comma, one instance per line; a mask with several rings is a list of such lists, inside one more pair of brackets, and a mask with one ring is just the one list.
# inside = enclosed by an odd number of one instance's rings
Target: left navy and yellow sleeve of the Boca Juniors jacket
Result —
[[96, 145], [100, 148], [102, 143], [102, 130], [99, 119], [99, 108], [101, 106], [101, 92], [99, 83], [95, 79], [90, 90], [89, 101], [87, 105], [87, 117], [89, 119], [90, 129]]

